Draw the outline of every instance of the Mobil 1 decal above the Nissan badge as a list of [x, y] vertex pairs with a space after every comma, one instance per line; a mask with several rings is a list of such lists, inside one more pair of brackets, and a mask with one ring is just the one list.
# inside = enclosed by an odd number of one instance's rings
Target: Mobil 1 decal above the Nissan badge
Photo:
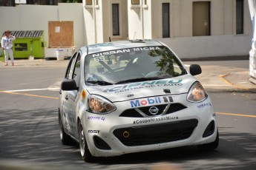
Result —
[[131, 107], [138, 107], [138, 106], [148, 106], [148, 105], [153, 105], [157, 103], [169, 103], [173, 102], [174, 100], [172, 99], [171, 96], [167, 97], [155, 97], [155, 98], [145, 98], [145, 99], [137, 99], [134, 101], [130, 101]]

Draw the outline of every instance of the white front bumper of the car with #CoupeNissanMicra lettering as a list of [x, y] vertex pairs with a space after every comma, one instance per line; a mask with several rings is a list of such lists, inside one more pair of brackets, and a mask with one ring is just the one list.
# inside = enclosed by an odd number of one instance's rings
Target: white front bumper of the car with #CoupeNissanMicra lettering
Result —
[[115, 105], [116, 111], [108, 115], [82, 114], [88, 148], [95, 157], [200, 145], [217, 137], [209, 98], [200, 103], [184, 101], [185, 109], [146, 118], [122, 117], [124, 110], [131, 109], [129, 101]]

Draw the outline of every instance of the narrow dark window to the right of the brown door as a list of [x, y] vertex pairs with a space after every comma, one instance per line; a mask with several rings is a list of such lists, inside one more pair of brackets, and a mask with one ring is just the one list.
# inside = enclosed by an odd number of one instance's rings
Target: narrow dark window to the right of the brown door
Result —
[[243, 0], [237, 0], [236, 20], [237, 34], [243, 34]]

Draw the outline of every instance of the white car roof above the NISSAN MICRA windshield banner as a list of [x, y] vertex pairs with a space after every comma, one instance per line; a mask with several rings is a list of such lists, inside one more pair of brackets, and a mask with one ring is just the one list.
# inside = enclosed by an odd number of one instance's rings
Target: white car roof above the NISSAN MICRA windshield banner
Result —
[[92, 44], [82, 47], [82, 53], [86, 52], [86, 55], [93, 54], [96, 52], [104, 52], [110, 50], [127, 49], [134, 47], [151, 47], [151, 46], [162, 46], [159, 41], [156, 40], [132, 40], [132, 41], [112, 41], [101, 44]]

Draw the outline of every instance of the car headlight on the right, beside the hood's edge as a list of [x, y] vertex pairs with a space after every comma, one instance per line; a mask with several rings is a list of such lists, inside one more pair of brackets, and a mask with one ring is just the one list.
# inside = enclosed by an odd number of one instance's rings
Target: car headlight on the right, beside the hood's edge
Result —
[[190, 102], [200, 102], [206, 100], [208, 95], [199, 82], [195, 82], [188, 91], [187, 100]]

